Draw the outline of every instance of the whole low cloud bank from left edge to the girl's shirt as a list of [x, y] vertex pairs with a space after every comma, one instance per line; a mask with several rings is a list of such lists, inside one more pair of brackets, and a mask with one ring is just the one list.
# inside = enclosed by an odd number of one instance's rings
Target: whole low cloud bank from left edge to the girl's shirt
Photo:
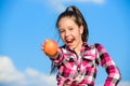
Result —
[[56, 86], [55, 76], [27, 68], [18, 71], [9, 57], [0, 56], [0, 85], [2, 86]]

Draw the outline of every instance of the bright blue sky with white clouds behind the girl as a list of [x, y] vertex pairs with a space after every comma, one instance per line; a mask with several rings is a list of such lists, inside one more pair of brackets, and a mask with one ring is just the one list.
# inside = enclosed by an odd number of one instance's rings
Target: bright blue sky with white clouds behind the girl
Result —
[[[130, 86], [129, 0], [0, 0], [0, 86], [56, 86], [41, 43], [58, 40], [55, 22], [69, 5], [88, 23], [88, 44], [101, 43], [120, 69], [119, 86]], [[99, 67], [95, 86], [105, 78]]]

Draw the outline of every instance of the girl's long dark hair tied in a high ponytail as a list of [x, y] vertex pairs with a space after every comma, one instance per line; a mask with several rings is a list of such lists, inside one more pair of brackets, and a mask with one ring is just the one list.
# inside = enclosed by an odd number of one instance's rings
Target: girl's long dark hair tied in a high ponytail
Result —
[[[83, 33], [81, 35], [81, 40], [83, 42], [87, 42], [89, 37], [89, 30], [88, 30], [88, 25], [81, 12], [75, 5], [68, 6], [66, 11], [61, 13], [61, 15], [57, 17], [56, 28], [58, 28], [58, 22], [63, 17], [70, 17], [70, 18], [74, 17], [74, 22], [78, 25], [78, 27], [83, 26]], [[55, 72], [55, 66], [52, 62], [50, 73], [53, 73], [53, 72]]]

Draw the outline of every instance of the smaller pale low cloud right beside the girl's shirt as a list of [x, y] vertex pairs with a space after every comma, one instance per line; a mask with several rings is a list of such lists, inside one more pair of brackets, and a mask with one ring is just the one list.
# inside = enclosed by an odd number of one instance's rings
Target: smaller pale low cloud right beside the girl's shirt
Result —
[[44, 84], [47, 86], [55, 86], [56, 81], [54, 76], [49, 76], [43, 73], [38, 72], [37, 70], [34, 69], [26, 69], [25, 74], [28, 78], [29, 86], [30, 85], [36, 85], [36, 86], [43, 86]]

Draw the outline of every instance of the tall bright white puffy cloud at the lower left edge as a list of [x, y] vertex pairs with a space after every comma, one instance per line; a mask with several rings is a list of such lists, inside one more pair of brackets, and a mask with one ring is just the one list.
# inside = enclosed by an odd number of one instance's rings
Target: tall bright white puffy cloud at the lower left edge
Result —
[[8, 57], [0, 57], [0, 82], [4, 84], [14, 82], [20, 82], [20, 84], [25, 83], [24, 74], [15, 69]]

